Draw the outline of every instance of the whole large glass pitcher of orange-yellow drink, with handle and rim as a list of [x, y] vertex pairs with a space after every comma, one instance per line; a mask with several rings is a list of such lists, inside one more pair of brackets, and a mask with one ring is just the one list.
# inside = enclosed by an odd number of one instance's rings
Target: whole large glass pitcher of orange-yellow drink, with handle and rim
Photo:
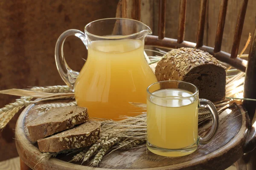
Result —
[[[96, 118], [116, 120], [142, 113], [130, 102], [146, 103], [147, 87], [157, 82], [143, 54], [151, 29], [137, 20], [107, 18], [87, 24], [84, 32], [67, 30], [55, 46], [58, 72], [75, 92], [77, 105]], [[80, 73], [64, 59], [63, 44], [70, 35], [79, 37], [88, 50]]]

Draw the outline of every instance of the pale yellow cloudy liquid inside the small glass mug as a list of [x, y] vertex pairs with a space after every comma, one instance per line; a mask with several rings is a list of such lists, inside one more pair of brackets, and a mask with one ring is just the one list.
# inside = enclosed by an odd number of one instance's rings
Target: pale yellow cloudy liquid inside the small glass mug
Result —
[[[191, 96], [192, 93], [180, 89], [163, 89], [153, 94], [172, 100], [151, 96], [147, 101], [147, 140], [152, 145], [147, 143], [148, 149], [162, 156], [183, 156], [195, 151], [198, 140], [198, 99], [181, 100], [180, 97]], [[189, 152], [168, 151], [192, 146]]]

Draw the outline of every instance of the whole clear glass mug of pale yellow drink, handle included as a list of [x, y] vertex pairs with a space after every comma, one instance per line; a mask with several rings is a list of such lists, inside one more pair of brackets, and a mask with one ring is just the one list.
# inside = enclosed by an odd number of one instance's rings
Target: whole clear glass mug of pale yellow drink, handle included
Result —
[[[198, 144], [207, 144], [218, 130], [219, 117], [215, 106], [199, 99], [198, 88], [188, 82], [163, 81], [147, 89], [147, 147], [161, 156], [185, 156]], [[198, 106], [212, 115], [209, 133], [198, 136]]]

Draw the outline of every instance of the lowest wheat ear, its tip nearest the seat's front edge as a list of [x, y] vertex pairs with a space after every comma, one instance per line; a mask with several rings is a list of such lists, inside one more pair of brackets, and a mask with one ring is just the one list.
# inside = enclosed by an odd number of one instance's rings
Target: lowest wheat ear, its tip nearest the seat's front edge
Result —
[[102, 148], [99, 150], [99, 152], [96, 154], [96, 156], [91, 161], [92, 167], [98, 166], [99, 162], [102, 160], [103, 156], [108, 152], [108, 150], [110, 150], [110, 148], [114, 144], [121, 142], [122, 139], [123, 139], [122, 137], [114, 137], [114, 138], [109, 139], [108, 141], [104, 142], [104, 144], [102, 144]]

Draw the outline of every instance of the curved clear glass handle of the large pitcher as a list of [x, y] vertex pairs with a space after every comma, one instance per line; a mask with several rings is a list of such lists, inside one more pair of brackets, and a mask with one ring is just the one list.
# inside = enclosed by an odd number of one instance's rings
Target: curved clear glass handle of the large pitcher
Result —
[[87, 37], [86, 35], [77, 29], [70, 29], [61, 34], [55, 45], [55, 62], [58, 72], [64, 82], [74, 91], [74, 84], [76, 78], [79, 75], [78, 71], [73, 71], [68, 65], [63, 54], [63, 45], [67, 37], [74, 35], [84, 43], [87, 48]]

